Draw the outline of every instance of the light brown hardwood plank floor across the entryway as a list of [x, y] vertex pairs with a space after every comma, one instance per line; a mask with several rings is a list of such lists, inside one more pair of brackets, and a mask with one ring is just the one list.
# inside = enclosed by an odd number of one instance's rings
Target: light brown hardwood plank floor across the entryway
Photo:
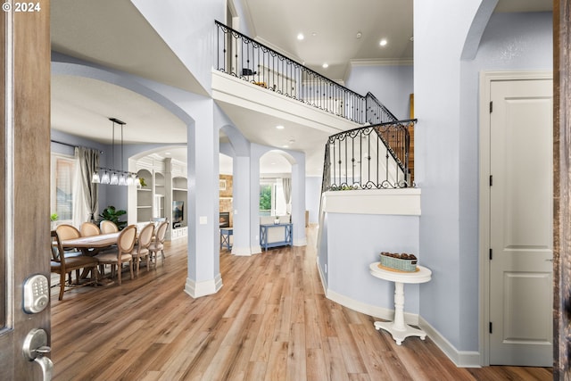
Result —
[[62, 301], [54, 287], [54, 380], [551, 379], [546, 368], [456, 368], [429, 338], [396, 345], [372, 317], [325, 298], [312, 247], [222, 251], [224, 286], [198, 299], [183, 292], [186, 240], [121, 286]]

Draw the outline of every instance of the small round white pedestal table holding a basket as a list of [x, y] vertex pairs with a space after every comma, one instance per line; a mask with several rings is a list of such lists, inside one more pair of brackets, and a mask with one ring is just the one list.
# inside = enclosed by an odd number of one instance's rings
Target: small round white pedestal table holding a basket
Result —
[[409, 336], [418, 336], [421, 340], [426, 338], [426, 332], [410, 327], [404, 322], [404, 284], [425, 283], [431, 279], [432, 271], [423, 266], [417, 266], [415, 272], [392, 271], [390, 269], [381, 269], [378, 267], [379, 262], [371, 263], [369, 269], [373, 277], [388, 280], [394, 283], [394, 320], [393, 321], [376, 321], [375, 328], [385, 329], [391, 335], [397, 345], [402, 344], [402, 340]]

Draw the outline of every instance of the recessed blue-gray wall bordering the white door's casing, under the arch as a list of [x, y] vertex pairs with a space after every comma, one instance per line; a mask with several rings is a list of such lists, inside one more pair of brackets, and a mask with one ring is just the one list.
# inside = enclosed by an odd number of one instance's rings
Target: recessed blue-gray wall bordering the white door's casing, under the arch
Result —
[[[552, 14], [494, 13], [473, 61], [461, 63], [459, 128], [459, 283], [461, 347], [477, 348], [479, 79], [489, 70], [551, 70]], [[464, 327], [466, 326], [466, 327]]]

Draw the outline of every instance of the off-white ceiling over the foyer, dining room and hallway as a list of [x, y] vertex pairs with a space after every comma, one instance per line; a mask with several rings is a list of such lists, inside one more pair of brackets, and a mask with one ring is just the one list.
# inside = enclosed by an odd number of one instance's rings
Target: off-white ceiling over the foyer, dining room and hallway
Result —
[[[240, 0], [234, 0], [238, 2]], [[327, 78], [343, 81], [351, 62], [412, 61], [413, 0], [242, 0], [252, 37]], [[551, 0], [500, 0], [496, 12], [552, 10]], [[128, 0], [57, 0], [51, 2], [52, 50], [145, 79], [205, 94], [192, 73]], [[125, 26], [128, 25], [128, 28]], [[214, 28], [212, 23], [212, 28]], [[360, 32], [360, 37], [357, 36]], [[297, 35], [302, 33], [303, 40]], [[379, 46], [385, 38], [386, 46]], [[327, 69], [322, 64], [327, 62]], [[325, 138], [302, 126], [220, 104], [250, 141], [306, 153], [306, 172], [321, 173]], [[127, 122], [126, 144], [185, 144], [186, 126], [166, 109], [124, 87], [95, 79], [52, 76], [52, 128], [111, 143], [109, 117]], [[275, 128], [285, 124], [284, 130]], [[260, 128], [265, 126], [263, 134]], [[157, 131], [160, 130], [160, 133]], [[225, 137], [221, 134], [221, 138]], [[186, 161], [186, 148], [169, 149]], [[167, 156], [165, 153], [160, 153]], [[221, 158], [221, 172], [229, 173]], [[273, 163], [273, 164], [272, 164]], [[226, 165], [226, 168], [222, 168]], [[262, 172], [286, 172], [289, 164], [269, 154]]]

